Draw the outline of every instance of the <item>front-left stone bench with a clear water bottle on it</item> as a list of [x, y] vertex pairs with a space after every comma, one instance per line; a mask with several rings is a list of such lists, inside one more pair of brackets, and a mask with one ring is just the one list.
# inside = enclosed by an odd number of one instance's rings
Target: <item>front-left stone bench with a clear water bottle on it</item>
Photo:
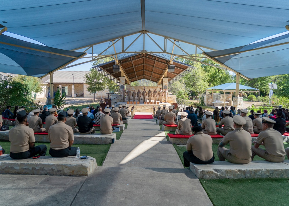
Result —
[[95, 158], [81, 160], [75, 156], [53, 158], [41, 156], [37, 159], [14, 160], [9, 155], [1, 158], [0, 173], [23, 175], [89, 176], [97, 168]]

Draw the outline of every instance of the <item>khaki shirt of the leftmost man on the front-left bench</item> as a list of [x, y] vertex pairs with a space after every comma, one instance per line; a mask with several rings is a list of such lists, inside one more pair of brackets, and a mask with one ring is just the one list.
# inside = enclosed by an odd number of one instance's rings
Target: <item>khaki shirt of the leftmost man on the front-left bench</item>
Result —
[[29, 143], [35, 142], [34, 131], [25, 124], [18, 124], [9, 130], [10, 152], [19, 153], [29, 150]]

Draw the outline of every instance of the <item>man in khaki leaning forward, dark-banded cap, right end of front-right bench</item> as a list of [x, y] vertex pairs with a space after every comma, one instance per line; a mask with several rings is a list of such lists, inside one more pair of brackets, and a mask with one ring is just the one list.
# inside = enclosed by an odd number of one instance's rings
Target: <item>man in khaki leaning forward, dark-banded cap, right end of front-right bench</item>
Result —
[[[255, 145], [252, 146], [252, 160], [255, 155], [264, 158], [269, 162], [283, 162], [285, 159], [285, 149], [283, 137], [277, 130], [273, 129], [276, 121], [267, 117], [262, 118], [263, 130], [259, 133]], [[265, 149], [259, 148], [264, 145]]]

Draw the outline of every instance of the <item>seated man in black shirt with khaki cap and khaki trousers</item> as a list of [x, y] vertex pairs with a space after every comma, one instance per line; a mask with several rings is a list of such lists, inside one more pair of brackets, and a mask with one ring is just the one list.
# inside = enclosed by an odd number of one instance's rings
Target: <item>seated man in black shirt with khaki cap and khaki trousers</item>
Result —
[[93, 127], [93, 120], [87, 116], [88, 108], [83, 108], [81, 110], [82, 116], [78, 117], [78, 130], [80, 134], [93, 134], [95, 133], [95, 128]]

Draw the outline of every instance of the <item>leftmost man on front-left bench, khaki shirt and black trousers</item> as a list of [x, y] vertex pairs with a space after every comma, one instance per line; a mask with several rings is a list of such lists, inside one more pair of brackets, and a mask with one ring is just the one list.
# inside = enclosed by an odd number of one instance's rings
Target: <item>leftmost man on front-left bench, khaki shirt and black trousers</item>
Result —
[[27, 115], [25, 110], [17, 112], [17, 119], [19, 124], [9, 131], [10, 157], [22, 160], [37, 154], [45, 156], [46, 145], [35, 147], [34, 131], [32, 128], [26, 127]]

